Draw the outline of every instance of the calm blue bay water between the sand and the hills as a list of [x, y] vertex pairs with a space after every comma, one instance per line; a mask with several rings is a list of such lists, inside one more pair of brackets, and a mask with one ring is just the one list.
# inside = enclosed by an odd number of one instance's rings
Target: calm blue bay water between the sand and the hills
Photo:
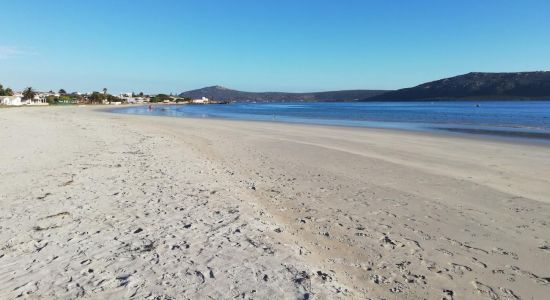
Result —
[[441, 131], [550, 141], [550, 101], [234, 103], [124, 107], [117, 113]]

